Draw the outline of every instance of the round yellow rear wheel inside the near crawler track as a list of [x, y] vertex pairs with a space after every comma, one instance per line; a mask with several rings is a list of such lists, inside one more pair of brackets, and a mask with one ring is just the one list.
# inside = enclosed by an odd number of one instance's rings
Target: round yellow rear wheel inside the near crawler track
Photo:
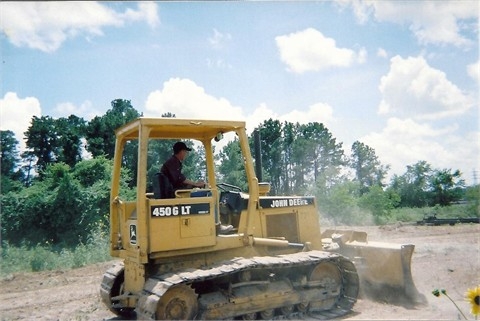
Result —
[[157, 320], [193, 320], [198, 312], [197, 294], [187, 285], [168, 289], [157, 305]]

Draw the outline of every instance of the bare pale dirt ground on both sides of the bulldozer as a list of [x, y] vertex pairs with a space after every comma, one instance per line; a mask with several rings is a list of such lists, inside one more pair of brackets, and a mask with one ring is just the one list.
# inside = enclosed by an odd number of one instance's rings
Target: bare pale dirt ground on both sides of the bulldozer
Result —
[[[480, 225], [395, 225], [361, 227], [369, 240], [415, 244], [412, 274], [427, 303], [409, 307], [361, 297], [343, 320], [461, 320], [462, 315], [446, 296], [445, 289], [467, 318], [473, 320], [464, 300], [468, 288], [480, 284]], [[0, 280], [1, 320], [117, 320], [100, 302], [104, 271], [113, 262], [68, 271], [21, 273]]]

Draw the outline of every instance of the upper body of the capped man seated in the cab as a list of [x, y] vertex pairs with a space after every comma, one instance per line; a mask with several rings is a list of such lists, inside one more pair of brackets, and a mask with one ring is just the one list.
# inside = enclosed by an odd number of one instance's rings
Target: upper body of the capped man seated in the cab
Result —
[[182, 174], [182, 162], [187, 157], [188, 152], [192, 149], [188, 148], [184, 142], [176, 142], [173, 145], [173, 155], [162, 166], [161, 172], [168, 177], [168, 180], [177, 189], [190, 189], [194, 187], [205, 188], [204, 181], [194, 182]]

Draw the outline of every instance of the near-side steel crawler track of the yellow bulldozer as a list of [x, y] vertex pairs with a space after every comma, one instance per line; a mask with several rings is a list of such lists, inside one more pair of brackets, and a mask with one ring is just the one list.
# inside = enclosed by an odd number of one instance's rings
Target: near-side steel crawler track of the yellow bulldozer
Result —
[[[154, 275], [147, 279], [143, 292], [138, 300], [136, 307], [137, 317], [140, 319], [154, 320], [156, 318], [157, 305], [161, 297], [172, 287], [178, 285], [189, 285], [191, 286], [194, 283], [204, 282], [209, 280], [214, 280], [219, 277], [230, 277], [235, 273], [242, 271], [255, 271], [255, 270], [280, 270], [280, 269], [292, 269], [292, 268], [301, 268], [308, 266], [317, 266], [320, 263], [329, 262], [334, 264], [341, 275], [341, 291], [334, 298], [334, 304], [328, 310], [321, 311], [302, 311], [294, 312], [287, 315], [277, 315], [272, 316], [269, 319], [291, 319], [293, 318], [302, 318], [303, 316], [309, 315], [311, 317], [324, 320], [324, 319], [333, 319], [345, 315], [351, 311], [352, 306], [356, 302], [357, 293], [359, 290], [359, 281], [358, 275], [355, 269], [355, 266], [348, 259], [344, 258], [338, 254], [327, 253], [323, 251], [308, 251], [308, 252], [299, 252], [289, 255], [279, 255], [279, 256], [265, 256], [265, 257], [253, 257], [253, 258], [237, 258], [229, 261], [218, 263], [212, 267], [205, 269], [191, 269], [178, 271], [177, 273], [165, 273], [161, 275]], [[118, 271], [115, 270], [115, 271]], [[118, 273], [118, 272], [116, 272]], [[112, 274], [112, 273], [110, 273]], [[107, 278], [107, 283], [113, 284], [113, 281], [108, 281], [110, 278]], [[108, 284], [104, 284], [102, 288], [105, 291], [108, 291]], [[294, 286], [294, 289], [299, 288], [299, 286]], [[300, 286], [301, 288], [301, 286]], [[317, 289], [321, 287], [317, 285]], [[277, 307], [281, 308], [281, 307]], [[232, 315], [222, 316], [220, 319], [232, 318], [239, 315], [255, 313], [262, 311], [245, 311], [245, 312], [234, 312]], [[198, 314], [196, 314], [197, 319], [212, 319], [212, 315], [209, 314], [207, 307], [202, 304], [201, 299], [199, 299], [199, 308]]]

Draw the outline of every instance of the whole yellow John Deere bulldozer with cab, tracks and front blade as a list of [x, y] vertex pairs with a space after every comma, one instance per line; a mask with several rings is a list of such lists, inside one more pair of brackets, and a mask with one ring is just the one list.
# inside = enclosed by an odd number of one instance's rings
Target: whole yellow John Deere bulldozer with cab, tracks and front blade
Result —
[[[224, 135], [239, 142], [246, 191], [217, 181], [214, 148]], [[166, 195], [162, 175], [147, 174], [155, 140], [201, 150], [205, 188]], [[129, 199], [121, 173], [131, 146], [138, 148], [137, 186]], [[269, 196], [254, 163], [242, 121], [142, 117], [116, 130], [110, 253], [120, 260], [100, 288], [113, 313], [151, 320], [332, 319], [351, 312], [363, 287], [417, 300], [413, 245], [369, 242], [359, 231], [320, 233], [316, 199]], [[221, 234], [220, 223], [233, 229]]]

